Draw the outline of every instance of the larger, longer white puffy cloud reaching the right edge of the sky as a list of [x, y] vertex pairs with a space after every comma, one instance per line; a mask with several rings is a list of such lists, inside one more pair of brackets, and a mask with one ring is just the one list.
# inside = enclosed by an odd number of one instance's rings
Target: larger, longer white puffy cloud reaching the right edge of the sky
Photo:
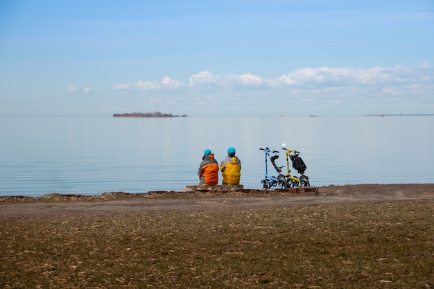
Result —
[[413, 85], [415, 82], [434, 82], [434, 69], [428, 64], [421, 67], [372, 67], [360, 69], [343, 68], [303, 68], [290, 71], [275, 79], [266, 79], [251, 73], [241, 75], [214, 75], [202, 71], [189, 78], [192, 89], [236, 89], [236, 88], [295, 88], [295, 87], [335, 87], [358, 85]]

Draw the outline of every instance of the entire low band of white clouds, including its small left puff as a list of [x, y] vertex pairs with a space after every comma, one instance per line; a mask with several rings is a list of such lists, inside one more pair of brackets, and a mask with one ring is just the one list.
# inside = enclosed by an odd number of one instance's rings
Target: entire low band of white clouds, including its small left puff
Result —
[[[372, 67], [368, 69], [344, 68], [303, 68], [290, 71], [278, 78], [268, 79], [251, 73], [216, 75], [201, 71], [189, 77], [188, 85], [181, 81], [164, 77], [161, 81], [142, 81], [119, 84], [118, 91], [192, 91], [236, 90], [236, 89], [326, 89], [331, 87], [383, 86], [383, 91], [392, 92], [392, 87], [434, 84], [434, 69], [429, 64], [419, 67]], [[396, 89], [396, 88], [395, 88]]]

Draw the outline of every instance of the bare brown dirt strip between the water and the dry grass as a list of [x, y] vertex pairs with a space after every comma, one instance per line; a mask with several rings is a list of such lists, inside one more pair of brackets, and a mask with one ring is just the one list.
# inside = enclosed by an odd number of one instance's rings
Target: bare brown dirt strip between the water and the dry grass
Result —
[[162, 211], [252, 209], [349, 202], [434, 200], [434, 184], [356, 184], [322, 186], [315, 193], [109, 193], [103, 196], [53, 195], [41, 198], [1, 197], [0, 219], [44, 216], [89, 216]]

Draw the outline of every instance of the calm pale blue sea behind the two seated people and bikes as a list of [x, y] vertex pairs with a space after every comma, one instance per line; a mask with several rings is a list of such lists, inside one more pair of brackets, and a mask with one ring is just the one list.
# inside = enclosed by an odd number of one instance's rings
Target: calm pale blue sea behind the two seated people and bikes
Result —
[[0, 195], [180, 191], [198, 184], [203, 150], [220, 163], [229, 146], [241, 183], [261, 189], [259, 148], [282, 143], [301, 152], [311, 186], [434, 183], [434, 116], [2, 117], [0, 135]]

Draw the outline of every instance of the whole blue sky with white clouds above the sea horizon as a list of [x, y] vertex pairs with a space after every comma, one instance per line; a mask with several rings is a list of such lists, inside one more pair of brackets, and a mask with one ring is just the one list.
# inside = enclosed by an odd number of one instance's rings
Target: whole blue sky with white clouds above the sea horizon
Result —
[[0, 0], [0, 116], [434, 114], [433, 0]]

